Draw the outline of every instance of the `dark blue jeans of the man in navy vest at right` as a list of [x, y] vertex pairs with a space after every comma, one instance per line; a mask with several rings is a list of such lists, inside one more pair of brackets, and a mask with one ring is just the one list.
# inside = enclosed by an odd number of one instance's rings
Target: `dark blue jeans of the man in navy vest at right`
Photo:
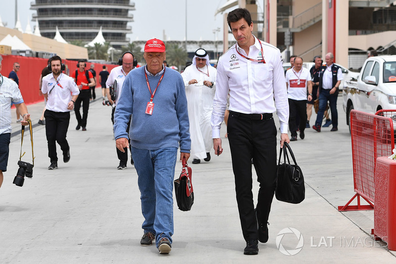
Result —
[[333, 124], [333, 127], [338, 127], [337, 97], [338, 97], [338, 91], [331, 95], [330, 90], [320, 89], [319, 109], [318, 109], [318, 115], [316, 117], [315, 125], [320, 125], [320, 126], [322, 125], [323, 115], [326, 110], [327, 101], [329, 101], [330, 110], [331, 110], [331, 122]]

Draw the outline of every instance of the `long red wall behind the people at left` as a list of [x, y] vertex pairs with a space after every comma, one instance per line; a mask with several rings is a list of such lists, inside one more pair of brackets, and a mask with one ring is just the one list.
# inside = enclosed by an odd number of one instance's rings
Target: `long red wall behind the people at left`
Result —
[[[1, 75], [8, 77], [8, 74], [12, 71], [14, 62], [19, 62], [20, 68], [17, 72], [19, 78], [19, 90], [23, 97], [23, 101], [26, 105], [35, 104], [44, 100], [43, 96], [39, 95], [39, 78], [41, 71], [47, 65], [47, 58], [36, 58], [36, 57], [24, 57], [17, 55], [2, 55], [3, 60], [1, 62]], [[75, 60], [63, 60], [62, 62], [66, 65], [65, 74], [71, 75], [73, 71], [77, 69], [77, 61]], [[95, 65], [95, 71], [97, 75], [102, 70], [102, 66], [106, 65], [107, 70], [110, 72], [111, 69], [118, 65], [114, 64], [100, 64], [87, 62], [87, 68]], [[100, 87], [100, 84], [97, 84]], [[15, 107], [15, 106], [14, 106]]]

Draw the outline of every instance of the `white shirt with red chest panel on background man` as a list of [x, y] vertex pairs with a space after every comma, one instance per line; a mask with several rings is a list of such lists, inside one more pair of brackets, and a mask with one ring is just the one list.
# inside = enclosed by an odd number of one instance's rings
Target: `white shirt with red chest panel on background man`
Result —
[[289, 99], [301, 101], [307, 100], [307, 84], [311, 80], [311, 73], [307, 68], [301, 67], [297, 72], [294, 68], [286, 72]]

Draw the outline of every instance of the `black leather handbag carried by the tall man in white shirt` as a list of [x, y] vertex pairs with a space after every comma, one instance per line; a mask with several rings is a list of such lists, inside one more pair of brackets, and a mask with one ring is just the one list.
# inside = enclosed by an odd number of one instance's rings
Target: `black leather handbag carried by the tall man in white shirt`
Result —
[[[284, 163], [280, 164], [283, 149], [285, 149], [283, 152]], [[305, 199], [304, 177], [289, 144], [285, 142], [283, 149], [281, 148], [279, 154], [275, 197], [282, 202], [299, 204]], [[290, 164], [287, 150], [289, 150], [292, 156], [294, 165]], [[286, 158], [288, 159], [288, 163], [286, 163]]]

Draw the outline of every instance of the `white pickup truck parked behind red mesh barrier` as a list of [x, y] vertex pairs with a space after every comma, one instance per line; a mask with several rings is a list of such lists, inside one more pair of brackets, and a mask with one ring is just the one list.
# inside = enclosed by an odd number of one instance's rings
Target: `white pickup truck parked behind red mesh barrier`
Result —
[[[396, 111], [396, 55], [369, 57], [357, 79], [343, 86], [343, 107], [350, 131], [352, 109], [375, 114], [382, 109]], [[396, 116], [392, 116], [396, 128]]]

